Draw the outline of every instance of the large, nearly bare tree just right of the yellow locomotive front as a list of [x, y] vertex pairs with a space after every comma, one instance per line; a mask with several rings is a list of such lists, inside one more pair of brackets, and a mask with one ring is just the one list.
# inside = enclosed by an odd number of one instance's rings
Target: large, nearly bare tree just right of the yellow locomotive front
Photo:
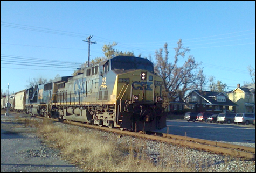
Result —
[[174, 100], [176, 96], [183, 97], [185, 92], [191, 89], [202, 89], [205, 85], [205, 75], [203, 69], [199, 68], [201, 63], [195, 61], [192, 55], [189, 55], [182, 66], [178, 66], [179, 57], [185, 57], [190, 49], [182, 45], [182, 40], [177, 42], [178, 46], [175, 49], [174, 62], [169, 62], [168, 44], [164, 44], [163, 49], [155, 52], [156, 64], [155, 72], [163, 79], [164, 83], [164, 104], [168, 106], [169, 102]]

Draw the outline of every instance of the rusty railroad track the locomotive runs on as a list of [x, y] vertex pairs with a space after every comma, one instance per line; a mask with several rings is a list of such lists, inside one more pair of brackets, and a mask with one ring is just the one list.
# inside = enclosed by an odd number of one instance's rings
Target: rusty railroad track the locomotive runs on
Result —
[[[43, 118], [39, 116], [37, 117]], [[58, 121], [57, 119], [52, 119], [52, 120]], [[186, 136], [178, 136], [178, 135], [165, 134], [165, 133], [147, 132], [147, 134], [144, 134], [140, 132], [135, 133], [135, 132], [129, 132], [129, 131], [121, 131], [120, 129], [116, 129], [116, 128], [100, 127], [100, 126], [89, 125], [89, 124], [84, 124], [81, 122], [74, 122], [74, 121], [64, 121], [64, 123], [84, 126], [87, 128], [99, 129], [107, 132], [114, 132], [114, 133], [123, 134], [123, 135], [135, 136], [137, 138], [145, 138], [149, 140], [167, 142], [167, 143], [172, 143], [174, 145], [188, 146], [194, 149], [206, 150], [209, 152], [214, 152], [214, 153], [219, 153], [224, 155], [232, 155], [236, 157], [243, 157], [243, 158], [255, 160], [255, 148], [253, 147], [232, 145], [230, 143], [216, 142], [216, 141], [190, 138]]]

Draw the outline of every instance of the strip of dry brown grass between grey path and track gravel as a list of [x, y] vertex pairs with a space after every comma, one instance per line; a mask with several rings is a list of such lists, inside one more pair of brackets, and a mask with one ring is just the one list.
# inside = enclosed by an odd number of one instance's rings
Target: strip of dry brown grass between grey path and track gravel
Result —
[[[38, 135], [50, 147], [58, 148], [66, 160], [79, 165], [85, 171], [106, 172], [196, 172], [204, 171], [205, 165], [193, 164], [188, 160], [188, 150], [180, 147], [179, 155], [164, 149], [160, 144], [157, 163], [150, 160], [145, 153], [146, 142], [144, 139], [134, 138], [129, 143], [117, 143], [117, 135], [102, 136], [98, 131], [89, 133], [81, 131], [78, 126], [66, 129], [53, 124], [51, 120], [44, 119], [36, 123], [34, 120], [25, 119], [26, 126], [38, 127]], [[124, 140], [125, 141], [125, 140]], [[127, 142], [127, 141], [126, 141]], [[168, 158], [163, 162], [162, 158]], [[228, 162], [228, 161], [227, 161]], [[202, 161], [203, 163], [203, 161]], [[210, 163], [213, 165], [213, 163]]]

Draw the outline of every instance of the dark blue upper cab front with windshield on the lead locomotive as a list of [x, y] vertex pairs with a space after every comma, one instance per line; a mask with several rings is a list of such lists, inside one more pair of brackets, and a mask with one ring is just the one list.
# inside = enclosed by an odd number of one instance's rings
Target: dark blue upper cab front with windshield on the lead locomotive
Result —
[[114, 69], [145, 69], [154, 72], [153, 63], [147, 59], [133, 56], [116, 56], [111, 59], [111, 70]]

